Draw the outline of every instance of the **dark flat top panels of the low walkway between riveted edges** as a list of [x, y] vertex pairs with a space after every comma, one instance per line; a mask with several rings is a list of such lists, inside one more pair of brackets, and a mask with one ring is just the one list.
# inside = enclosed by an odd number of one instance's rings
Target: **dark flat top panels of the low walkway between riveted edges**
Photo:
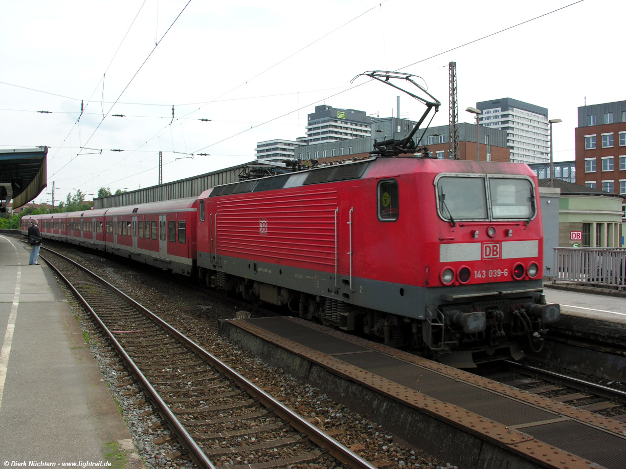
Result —
[[[281, 338], [532, 435], [610, 469], [626, 468], [626, 439], [510, 396], [483, 389], [290, 318], [245, 320]], [[236, 325], [236, 321], [234, 323]], [[560, 421], [551, 421], [560, 420]]]

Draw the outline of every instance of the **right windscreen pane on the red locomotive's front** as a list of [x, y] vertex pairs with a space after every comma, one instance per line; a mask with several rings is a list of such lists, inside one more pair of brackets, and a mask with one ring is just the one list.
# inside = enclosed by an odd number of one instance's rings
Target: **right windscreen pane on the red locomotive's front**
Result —
[[535, 211], [533, 186], [528, 179], [489, 178], [493, 218], [529, 218]]

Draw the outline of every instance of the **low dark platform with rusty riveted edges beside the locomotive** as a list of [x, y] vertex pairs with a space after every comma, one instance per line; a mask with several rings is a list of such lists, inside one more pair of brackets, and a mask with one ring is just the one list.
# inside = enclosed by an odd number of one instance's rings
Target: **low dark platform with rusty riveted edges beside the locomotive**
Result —
[[626, 468], [626, 425], [582, 408], [299, 318], [224, 320], [220, 333], [467, 467]]

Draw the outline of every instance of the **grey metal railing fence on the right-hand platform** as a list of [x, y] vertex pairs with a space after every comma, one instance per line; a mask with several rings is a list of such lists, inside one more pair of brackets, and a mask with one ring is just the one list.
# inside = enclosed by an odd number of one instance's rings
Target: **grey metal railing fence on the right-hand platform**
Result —
[[553, 248], [552, 283], [557, 280], [590, 285], [626, 285], [626, 248]]

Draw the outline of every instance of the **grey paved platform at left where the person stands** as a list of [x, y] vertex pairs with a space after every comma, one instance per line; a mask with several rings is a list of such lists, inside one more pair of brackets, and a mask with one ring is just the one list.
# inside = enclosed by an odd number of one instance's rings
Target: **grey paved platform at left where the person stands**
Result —
[[[0, 235], [0, 461], [98, 463], [131, 441], [63, 291]], [[43, 464], [39, 464], [43, 463]]]

